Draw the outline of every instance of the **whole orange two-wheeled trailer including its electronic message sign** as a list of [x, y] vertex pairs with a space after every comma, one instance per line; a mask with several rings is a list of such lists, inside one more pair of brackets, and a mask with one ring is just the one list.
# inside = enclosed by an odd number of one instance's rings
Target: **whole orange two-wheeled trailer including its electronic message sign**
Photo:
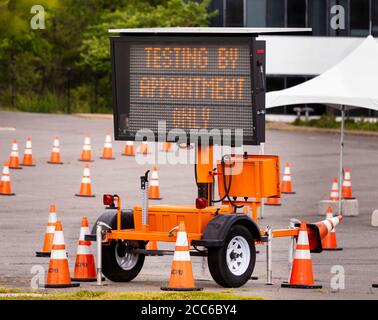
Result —
[[[280, 197], [278, 156], [229, 154], [214, 168], [214, 145], [265, 141], [265, 42], [256, 39], [262, 31], [115, 32], [118, 36], [111, 38], [115, 139], [151, 141], [152, 134], [155, 141], [189, 145], [195, 138], [198, 196], [192, 206], [149, 206], [148, 172], [141, 176], [140, 206], [121, 210], [117, 195], [105, 195], [108, 208], [96, 223], [102, 229], [94, 228], [101, 236], [102, 272], [112, 281], [131, 281], [146, 255], [173, 254], [146, 250], [146, 245], [175, 242], [177, 226], [184, 221], [191, 255], [207, 256], [210, 273], [219, 285], [240, 287], [252, 276], [255, 244], [298, 235], [295, 227], [258, 227], [262, 199]], [[220, 136], [214, 134], [217, 129], [223, 130]], [[216, 186], [219, 199], [214, 196]], [[240, 212], [243, 206], [250, 208], [250, 214]], [[312, 235], [313, 252], [321, 251], [316, 228]]]

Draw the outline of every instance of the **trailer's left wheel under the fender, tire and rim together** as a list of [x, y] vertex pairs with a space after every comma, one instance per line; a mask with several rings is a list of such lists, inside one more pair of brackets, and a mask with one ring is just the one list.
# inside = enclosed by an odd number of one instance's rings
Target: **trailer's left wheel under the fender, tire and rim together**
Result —
[[140, 272], [144, 255], [127, 253], [126, 248], [144, 249], [143, 241], [111, 241], [102, 246], [102, 271], [104, 276], [114, 282], [128, 282]]

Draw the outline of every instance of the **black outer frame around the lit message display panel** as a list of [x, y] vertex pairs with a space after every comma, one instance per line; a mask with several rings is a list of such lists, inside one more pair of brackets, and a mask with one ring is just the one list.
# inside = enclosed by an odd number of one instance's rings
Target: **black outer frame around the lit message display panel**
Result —
[[[252, 111], [252, 137], [243, 137], [244, 145], [259, 145], [265, 142], [265, 41], [256, 40], [256, 36], [251, 34], [121, 34], [120, 36], [110, 37], [110, 51], [112, 63], [112, 92], [113, 92], [113, 120], [115, 140], [135, 141], [135, 136], [130, 134], [120, 134], [119, 128], [119, 103], [126, 104], [126, 114], [130, 112], [130, 46], [135, 43], [146, 42], [149, 45], [159, 41], [172, 41], [175, 43], [246, 43], [250, 52], [250, 83], [251, 83], [251, 111]], [[116, 45], [125, 45], [126, 52], [123, 52], [123, 65], [116, 65], [117, 54]], [[220, 128], [223, 129], [223, 128]], [[187, 131], [187, 141], [190, 142], [189, 130]], [[161, 135], [155, 134], [155, 141], [161, 141]], [[149, 140], [150, 141], [150, 140]], [[167, 135], [165, 140], [167, 140]], [[170, 141], [174, 142], [174, 141]], [[210, 143], [212, 143], [210, 141]], [[223, 137], [221, 144], [224, 144]], [[235, 146], [235, 135], [232, 135], [231, 146]], [[238, 145], [239, 146], [239, 145]]]

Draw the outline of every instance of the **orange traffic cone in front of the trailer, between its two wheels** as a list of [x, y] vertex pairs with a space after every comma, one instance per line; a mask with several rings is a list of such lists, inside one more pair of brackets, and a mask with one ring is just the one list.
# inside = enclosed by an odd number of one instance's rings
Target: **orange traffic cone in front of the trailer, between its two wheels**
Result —
[[199, 291], [203, 288], [194, 286], [192, 262], [190, 261], [188, 235], [185, 223], [180, 221], [177, 232], [175, 254], [173, 256], [171, 276], [168, 287], [161, 287], [164, 291]]

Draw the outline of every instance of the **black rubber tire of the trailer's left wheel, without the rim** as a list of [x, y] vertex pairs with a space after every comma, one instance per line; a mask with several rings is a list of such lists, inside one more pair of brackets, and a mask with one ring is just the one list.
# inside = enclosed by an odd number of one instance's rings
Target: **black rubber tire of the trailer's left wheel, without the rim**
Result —
[[[119, 245], [124, 245], [122, 241], [118, 241]], [[138, 248], [144, 249], [143, 241], [136, 242]], [[111, 241], [110, 244], [102, 246], [102, 272], [106, 278], [114, 282], [129, 282], [133, 280], [142, 270], [144, 264], [144, 255], [138, 255], [138, 261], [130, 270], [122, 269], [116, 259], [116, 244], [117, 241]]]

